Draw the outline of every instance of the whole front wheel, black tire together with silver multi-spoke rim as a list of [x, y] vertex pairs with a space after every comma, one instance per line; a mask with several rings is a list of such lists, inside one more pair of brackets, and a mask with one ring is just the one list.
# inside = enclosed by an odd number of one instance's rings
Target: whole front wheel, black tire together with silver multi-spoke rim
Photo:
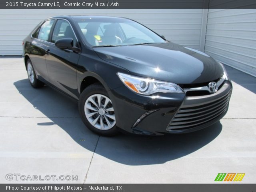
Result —
[[101, 84], [92, 84], [84, 89], [78, 109], [82, 121], [92, 132], [102, 136], [118, 134], [112, 102]]

